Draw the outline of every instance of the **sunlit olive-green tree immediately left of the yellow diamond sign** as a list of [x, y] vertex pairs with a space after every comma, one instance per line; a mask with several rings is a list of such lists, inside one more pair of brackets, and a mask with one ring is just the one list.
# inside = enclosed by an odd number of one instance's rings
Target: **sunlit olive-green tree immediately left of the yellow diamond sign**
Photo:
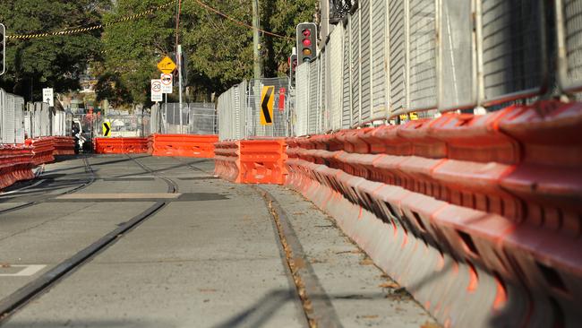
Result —
[[[161, 4], [167, 4], [167, 0], [118, 0], [116, 8], [105, 15], [104, 21], [112, 22]], [[98, 99], [113, 97], [112, 104], [116, 106], [149, 103], [150, 80], [159, 78], [156, 64], [174, 51], [175, 14], [172, 8], [111, 25], [103, 32], [104, 60], [92, 67], [99, 80]]]

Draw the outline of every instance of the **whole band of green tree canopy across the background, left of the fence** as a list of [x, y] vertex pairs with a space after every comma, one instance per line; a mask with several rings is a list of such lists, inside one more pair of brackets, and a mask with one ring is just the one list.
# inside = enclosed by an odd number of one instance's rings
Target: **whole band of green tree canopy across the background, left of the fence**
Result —
[[[10, 34], [52, 31], [113, 22], [167, 4], [168, 0], [7, 0], [0, 22]], [[295, 25], [311, 22], [317, 0], [260, 0], [261, 28], [292, 39], [261, 37], [265, 76], [287, 73], [287, 56], [295, 45]], [[208, 4], [237, 21], [252, 22], [248, 0], [183, 0], [180, 43], [189, 58], [188, 83], [195, 99], [252, 77], [252, 29], [211, 12]], [[105, 30], [70, 36], [11, 41], [10, 72], [0, 85], [25, 95], [45, 85], [56, 91], [78, 88], [79, 75], [89, 65], [98, 78], [98, 99], [114, 106], [147, 104], [150, 79], [159, 78], [156, 64], [175, 52], [174, 5]]]

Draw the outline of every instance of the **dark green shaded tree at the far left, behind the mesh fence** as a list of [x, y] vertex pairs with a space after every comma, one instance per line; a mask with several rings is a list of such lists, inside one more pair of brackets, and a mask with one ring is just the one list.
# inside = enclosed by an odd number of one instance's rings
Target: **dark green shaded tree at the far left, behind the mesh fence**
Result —
[[[9, 35], [52, 32], [100, 23], [110, 0], [3, 0], [0, 22]], [[0, 78], [6, 91], [39, 100], [42, 88], [71, 91], [79, 76], [101, 51], [100, 30], [87, 33], [13, 40], [6, 45], [8, 72]]]

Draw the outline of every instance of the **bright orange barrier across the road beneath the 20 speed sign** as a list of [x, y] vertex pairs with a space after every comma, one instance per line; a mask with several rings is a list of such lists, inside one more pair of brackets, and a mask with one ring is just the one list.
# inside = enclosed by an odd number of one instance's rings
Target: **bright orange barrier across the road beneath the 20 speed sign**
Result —
[[218, 135], [152, 134], [149, 152], [153, 156], [214, 158], [214, 144]]

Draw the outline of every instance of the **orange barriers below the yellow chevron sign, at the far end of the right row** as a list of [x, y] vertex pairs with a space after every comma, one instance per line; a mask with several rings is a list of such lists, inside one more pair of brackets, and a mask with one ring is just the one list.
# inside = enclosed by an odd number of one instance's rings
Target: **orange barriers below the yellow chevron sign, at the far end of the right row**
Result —
[[283, 139], [218, 142], [215, 174], [239, 184], [283, 185], [287, 178], [286, 148]]

